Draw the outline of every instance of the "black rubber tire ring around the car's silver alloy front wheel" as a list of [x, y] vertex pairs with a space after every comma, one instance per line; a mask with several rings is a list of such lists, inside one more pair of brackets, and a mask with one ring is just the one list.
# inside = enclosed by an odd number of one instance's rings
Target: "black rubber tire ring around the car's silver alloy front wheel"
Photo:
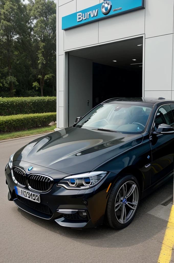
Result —
[[[132, 216], [132, 218], [127, 223], [121, 224], [118, 222], [115, 216], [115, 200], [116, 200], [116, 196], [117, 196], [119, 189], [127, 181], [135, 182], [138, 187], [138, 205], [137, 205], [137, 209], [135, 210], [135, 213]], [[124, 174], [122, 178], [118, 179], [118, 181], [115, 183], [115, 185], [113, 186], [111, 190], [110, 196], [108, 198], [108, 203], [107, 203], [107, 223], [108, 225], [115, 229], [123, 229], [127, 227], [129, 224], [131, 224], [132, 220], [135, 217], [135, 214], [137, 213], [139, 201], [140, 201], [140, 187], [139, 187], [139, 183], [137, 179], [132, 174]]]

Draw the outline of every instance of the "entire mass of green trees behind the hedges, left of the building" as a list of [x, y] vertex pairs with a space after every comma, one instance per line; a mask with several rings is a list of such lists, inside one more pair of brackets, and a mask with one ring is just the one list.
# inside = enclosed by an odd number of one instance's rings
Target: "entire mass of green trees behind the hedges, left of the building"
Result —
[[53, 0], [0, 0], [0, 61], [0, 96], [56, 95]]

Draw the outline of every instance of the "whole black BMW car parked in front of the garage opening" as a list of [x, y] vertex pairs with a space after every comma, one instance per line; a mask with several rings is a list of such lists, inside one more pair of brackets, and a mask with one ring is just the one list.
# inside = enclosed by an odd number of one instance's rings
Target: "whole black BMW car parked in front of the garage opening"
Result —
[[61, 226], [122, 229], [140, 199], [173, 175], [173, 125], [172, 100], [107, 100], [14, 153], [8, 199]]

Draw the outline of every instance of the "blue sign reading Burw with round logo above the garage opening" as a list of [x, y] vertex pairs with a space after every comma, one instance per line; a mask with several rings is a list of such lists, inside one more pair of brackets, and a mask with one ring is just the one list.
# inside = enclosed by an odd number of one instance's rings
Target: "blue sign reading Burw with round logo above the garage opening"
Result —
[[144, 8], [144, 0], [104, 1], [82, 11], [62, 17], [62, 29], [82, 26], [101, 19], [118, 16]]

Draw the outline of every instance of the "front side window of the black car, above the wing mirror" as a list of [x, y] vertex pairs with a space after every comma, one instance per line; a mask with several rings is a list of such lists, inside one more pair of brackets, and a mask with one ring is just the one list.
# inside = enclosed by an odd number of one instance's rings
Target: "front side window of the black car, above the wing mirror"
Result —
[[174, 124], [172, 110], [169, 105], [164, 105], [159, 108], [155, 118], [155, 131], [157, 131], [160, 124], [168, 124], [172, 126]]

